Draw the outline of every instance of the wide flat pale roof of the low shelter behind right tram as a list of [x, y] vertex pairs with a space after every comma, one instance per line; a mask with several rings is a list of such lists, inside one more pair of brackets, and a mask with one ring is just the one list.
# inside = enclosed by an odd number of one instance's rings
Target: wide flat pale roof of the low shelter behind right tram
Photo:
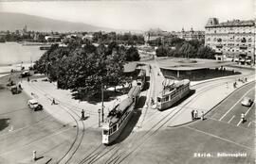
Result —
[[[194, 62], [193, 62], [194, 61]], [[230, 61], [219, 61], [212, 59], [194, 59], [192, 62], [180, 62], [177, 58], [159, 60], [159, 67], [164, 70], [192, 71], [207, 68], [217, 68], [233, 64]]]

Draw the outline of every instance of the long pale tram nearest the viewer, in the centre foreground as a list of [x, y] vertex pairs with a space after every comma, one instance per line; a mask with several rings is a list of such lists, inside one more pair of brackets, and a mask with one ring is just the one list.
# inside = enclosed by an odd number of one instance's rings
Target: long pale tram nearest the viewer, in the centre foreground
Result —
[[106, 122], [102, 125], [102, 143], [110, 144], [118, 139], [125, 125], [129, 122], [134, 113], [140, 94], [140, 87], [134, 86], [128, 92], [126, 99], [110, 110]]

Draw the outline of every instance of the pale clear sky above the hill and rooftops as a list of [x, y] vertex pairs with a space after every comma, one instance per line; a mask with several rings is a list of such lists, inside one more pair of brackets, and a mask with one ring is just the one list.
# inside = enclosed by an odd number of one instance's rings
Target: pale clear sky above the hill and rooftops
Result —
[[[1, 0], [0, 0], [1, 1]], [[256, 2], [256, 1], [255, 1]], [[0, 11], [116, 29], [204, 30], [211, 17], [220, 22], [255, 18], [254, 0], [93, 0], [0, 2]], [[1, 14], [1, 13], [0, 13]]]

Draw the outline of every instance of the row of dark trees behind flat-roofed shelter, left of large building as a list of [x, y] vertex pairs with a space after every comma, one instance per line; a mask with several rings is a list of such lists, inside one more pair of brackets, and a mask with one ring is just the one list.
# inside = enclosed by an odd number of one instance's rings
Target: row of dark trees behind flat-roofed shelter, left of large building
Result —
[[204, 41], [185, 41], [174, 38], [156, 49], [157, 57], [189, 57], [213, 59], [215, 52], [204, 45]]

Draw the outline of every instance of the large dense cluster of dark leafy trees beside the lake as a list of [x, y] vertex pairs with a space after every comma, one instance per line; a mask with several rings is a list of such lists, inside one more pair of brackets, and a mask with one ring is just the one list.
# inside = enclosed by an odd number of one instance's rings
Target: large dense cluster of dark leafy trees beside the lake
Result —
[[123, 74], [127, 61], [139, 60], [137, 48], [125, 48], [112, 42], [98, 47], [90, 42], [82, 46], [73, 41], [67, 47], [54, 44], [36, 61], [34, 69], [57, 81], [58, 88], [86, 93], [87, 97], [101, 91], [102, 86], [116, 87], [129, 78]]

